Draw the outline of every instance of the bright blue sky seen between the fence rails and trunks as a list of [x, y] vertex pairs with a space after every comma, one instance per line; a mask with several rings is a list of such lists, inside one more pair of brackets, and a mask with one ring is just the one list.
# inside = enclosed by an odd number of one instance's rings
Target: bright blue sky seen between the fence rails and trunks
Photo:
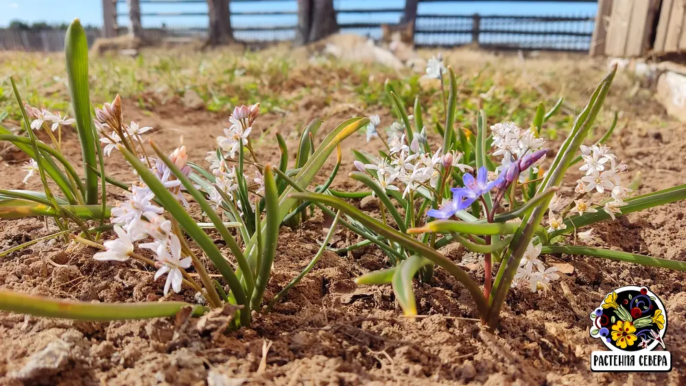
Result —
[[[404, 0], [334, 0], [336, 8], [402, 8]], [[473, 1], [420, 3], [419, 14], [502, 14], [502, 15], [569, 15], [589, 16], [595, 14], [595, 3], [512, 3], [508, 1]], [[119, 10], [125, 11], [126, 4], [119, 4]], [[206, 12], [204, 3], [190, 4], [141, 4], [141, 12]], [[255, 1], [252, 3], [232, 3], [233, 11], [259, 10], [296, 10], [296, 1]], [[0, 26], [19, 19], [34, 23], [67, 23], [78, 17], [85, 25], [102, 25], [102, 0], [0, 0]], [[340, 21], [363, 20], [369, 22], [397, 22], [399, 14], [344, 14]], [[235, 25], [292, 25], [294, 16], [240, 16], [233, 19]], [[121, 25], [126, 25], [126, 16], [119, 18]], [[169, 26], [202, 26], [206, 25], [206, 16], [144, 16], [144, 26], [156, 26], [166, 23]]]

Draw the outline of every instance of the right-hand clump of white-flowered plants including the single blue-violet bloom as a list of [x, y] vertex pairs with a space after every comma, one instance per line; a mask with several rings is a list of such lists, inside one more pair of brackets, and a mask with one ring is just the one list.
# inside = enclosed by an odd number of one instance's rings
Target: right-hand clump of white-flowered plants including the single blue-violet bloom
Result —
[[[444, 71], [437, 60], [429, 62], [427, 74], [442, 82]], [[390, 283], [405, 315], [417, 313], [412, 281], [418, 277], [430, 283], [436, 265], [462, 282], [478, 316], [490, 328], [497, 326], [512, 288], [544, 291], [560, 278], [557, 268], [546, 266], [541, 254], [583, 254], [685, 270], [686, 264], [680, 261], [575, 245], [577, 239], [589, 237], [589, 231], [581, 232], [582, 227], [686, 197], [686, 185], [630, 197], [627, 166], [605, 145], [617, 123], [616, 114], [600, 141], [589, 143], [589, 132], [616, 71], [616, 65], [611, 67], [554, 152], [541, 137], [541, 128], [558, 110], [561, 99], [549, 112], [539, 105], [529, 128], [506, 121], [489, 129], [483, 111], [477, 113], [475, 132], [454, 128], [457, 83], [448, 67], [446, 117], [436, 123], [442, 141], [431, 143], [419, 99], [412, 117], [388, 89], [399, 122], [383, 138], [378, 130], [381, 123], [372, 119], [367, 138], [379, 138], [379, 156], [354, 151], [357, 170], [350, 175], [379, 201], [380, 219], [357, 210], [344, 195], [292, 196], [318, 202], [329, 211], [340, 210], [349, 228], [366, 239], [337, 252], [372, 243], [381, 248], [392, 266], [356, 281], [361, 285]], [[575, 196], [566, 198], [557, 192], [570, 169], [584, 176], [577, 181]], [[460, 243], [482, 256], [483, 285], [438, 252], [449, 243]]]

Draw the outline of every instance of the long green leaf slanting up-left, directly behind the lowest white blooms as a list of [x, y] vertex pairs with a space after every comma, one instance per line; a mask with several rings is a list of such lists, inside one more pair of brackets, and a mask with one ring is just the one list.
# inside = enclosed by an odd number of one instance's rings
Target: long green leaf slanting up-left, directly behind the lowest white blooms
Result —
[[248, 301], [244, 288], [241, 286], [241, 282], [238, 280], [230, 265], [228, 265], [226, 258], [222, 256], [222, 252], [217, 248], [217, 245], [215, 245], [204, 230], [196, 224], [196, 221], [187, 213], [186, 209], [178, 203], [176, 197], [169, 193], [162, 182], [158, 180], [146, 165], [143, 165], [143, 162], [141, 162], [137, 156], [123, 148], [120, 148], [120, 151], [131, 166], [136, 169], [141, 180], [147, 184], [147, 187], [150, 188], [152, 193], [155, 193], [155, 196], [160, 200], [167, 212], [178, 221], [191, 239], [198, 243], [198, 246], [202, 248], [207, 257], [214, 263], [215, 267], [217, 267], [217, 270], [222, 274], [226, 282], [228, 282], [228, 286], [236, 301], [245, 307], [245, 309], [240, 311], [241, 325], [246, 327], [249, 326], [250, 302]]

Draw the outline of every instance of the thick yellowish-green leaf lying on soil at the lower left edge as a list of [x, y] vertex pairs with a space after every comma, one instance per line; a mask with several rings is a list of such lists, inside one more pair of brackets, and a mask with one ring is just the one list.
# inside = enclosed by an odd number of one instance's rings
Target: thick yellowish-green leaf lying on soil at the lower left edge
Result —
[[172, 317], [184, 307], [192, 307], [192, 315], [194, 316], [200, 316], [204, 313], [202, 306], [185, 302], [74, 302], [0, 289], [1, 310], [41, 317], [93, 321], [149, 319], [153, 317]]

